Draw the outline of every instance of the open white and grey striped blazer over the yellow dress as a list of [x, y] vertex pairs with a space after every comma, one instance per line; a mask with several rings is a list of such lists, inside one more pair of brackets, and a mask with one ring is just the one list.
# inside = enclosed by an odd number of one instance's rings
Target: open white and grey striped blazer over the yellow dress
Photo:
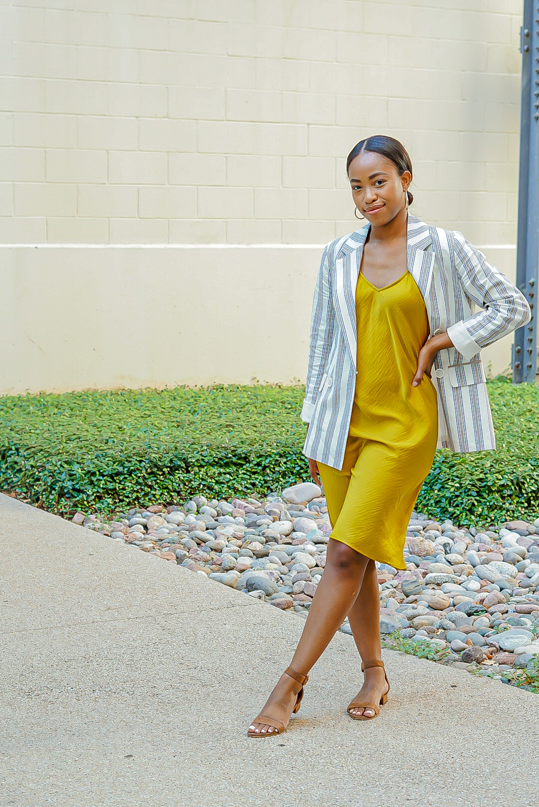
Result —
[[[303, 454], [339, 470], [356, 385], [355, 290], [369, 228], [325, 246], [312, 303]], [[481, 349], [529, 322], [529, 303], [462, 232], [432, 227], [410, 214], [407, 267], [427, 308], [428, 338], [446, 331], [454, 345], [441, 349], [432, 366], [437, 448], [495, 449]], [[481, 309], [475, 313], [474, 303]]]

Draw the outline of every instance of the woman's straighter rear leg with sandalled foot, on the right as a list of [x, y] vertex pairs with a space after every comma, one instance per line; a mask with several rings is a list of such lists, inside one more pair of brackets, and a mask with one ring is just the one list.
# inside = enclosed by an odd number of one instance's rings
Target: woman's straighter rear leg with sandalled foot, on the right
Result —
[[[325, 574], [325, 572], [324, 572]], [[361, 589], [348, 614], [353, 639], [363, 661], [382, 660], [380, 643], [380, 596], [378, 593], [378, 575], [374, 560], [367, 563]], [[382, 667], [370, 667], [364, 671], [365, 681], [358, 697], [378, 704], [382, 695], [387, 692], [386, 676]], [[374, 716], [374, 709], [357, 706], [350, 709], [354, 714]]]

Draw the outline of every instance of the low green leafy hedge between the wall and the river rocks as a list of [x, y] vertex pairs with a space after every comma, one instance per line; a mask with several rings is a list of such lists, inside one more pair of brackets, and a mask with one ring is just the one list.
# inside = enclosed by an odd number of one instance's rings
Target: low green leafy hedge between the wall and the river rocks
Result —
[[[437, 451], [417, 508], [460, 525], [539, 516], [539, 387], [488, 383], [498, 450]], [[303, 387], [84, 391], [0, 398], [0, 487], [52, 512], [111, 515], [310, 479]]]

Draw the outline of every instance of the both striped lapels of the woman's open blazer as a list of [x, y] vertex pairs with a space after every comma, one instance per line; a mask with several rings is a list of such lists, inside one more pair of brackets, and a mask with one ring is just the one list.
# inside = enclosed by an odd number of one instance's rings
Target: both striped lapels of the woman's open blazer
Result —
[[[361, 230], [352, 232], [341, 244], [335, 257], [333, 307], [345, 335], [354, 370], [357, 370], [356, 286], [361, 257], [363, 257], [363, 246], [369, 230], [370, 224], [365, 224]], [[425, 303], [428, 300], [435, 260], [433, 250], [427, 249], [429, 246], [432, 246], [432, 238], [428, 224], [417, 219], [416, 216], [408, 214], [407, 267], [416, 281]]]

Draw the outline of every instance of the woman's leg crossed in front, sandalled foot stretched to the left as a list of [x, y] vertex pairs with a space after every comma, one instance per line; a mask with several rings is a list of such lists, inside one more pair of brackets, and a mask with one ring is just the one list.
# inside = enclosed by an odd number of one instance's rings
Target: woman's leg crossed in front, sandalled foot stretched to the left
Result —
[[[341, 627], [360, 591], [368, 562], [369, 558], [365, 555], [341, 541], [329, 539], [324, 574], [312, 598], [303, 633], [290, 662], [290, 667], [302, 675], [307, 675], [331, 642], [336, 630]], [[261, 712], [264, 713], [267, 709], [272, 717], [286, 725], [300, 689], [301, 684], [283, 673]], [[272, 726], [257, 721], [253, 722], [249, 729], [259, 731], [261, 734], [276, 731]]]

